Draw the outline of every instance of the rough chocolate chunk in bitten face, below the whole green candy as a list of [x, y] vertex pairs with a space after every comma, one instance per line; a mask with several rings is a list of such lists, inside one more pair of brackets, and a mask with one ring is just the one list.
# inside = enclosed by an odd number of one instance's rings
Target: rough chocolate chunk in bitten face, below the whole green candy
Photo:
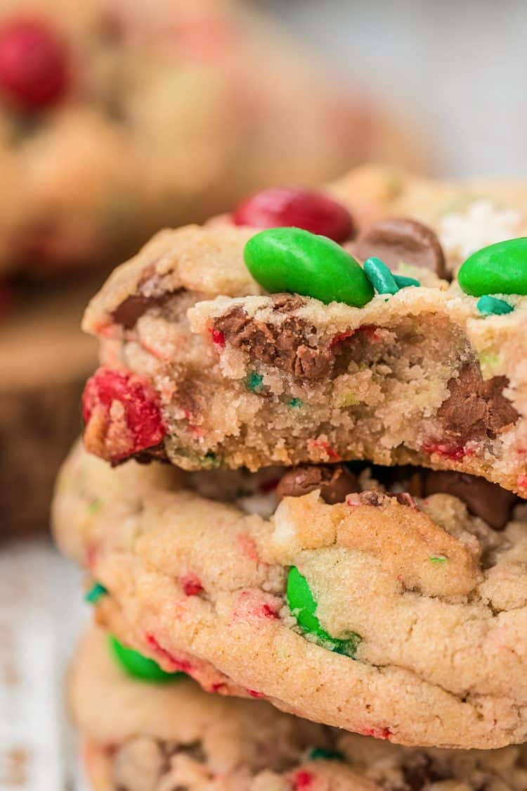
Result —
[[[299, 307], [298, 300], [299, 297], [279, 294], [273, 299], [273, 308], [287, 313]], [[314, 327], [299, 316], [286, 316], [280, 324], [266, 324], [236, 307], [216, 319], [213, 328], [251, 359], [274, 365], [298, 379], [322, 380], [332, 373], [332, 351], [311, 341]]]

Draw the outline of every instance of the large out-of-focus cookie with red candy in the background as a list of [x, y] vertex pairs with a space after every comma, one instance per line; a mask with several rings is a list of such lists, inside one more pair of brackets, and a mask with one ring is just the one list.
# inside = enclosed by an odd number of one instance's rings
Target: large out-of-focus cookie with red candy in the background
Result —
[[276, 180], [412, 149], [243, 4], [2, 3], [0, 271], [115, 263]]

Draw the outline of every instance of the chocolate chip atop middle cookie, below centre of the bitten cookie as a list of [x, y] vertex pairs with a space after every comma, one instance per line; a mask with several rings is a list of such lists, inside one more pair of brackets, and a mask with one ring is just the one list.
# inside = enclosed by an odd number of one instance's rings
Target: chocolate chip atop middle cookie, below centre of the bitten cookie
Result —
[[350, 492], [359, 491], [357, 479], [341, 464], [301, 464], [289, 470], [277, 486], [277, 498], [302, 497], [320, 489], [322, 500], [329, 505], [344, 502]]

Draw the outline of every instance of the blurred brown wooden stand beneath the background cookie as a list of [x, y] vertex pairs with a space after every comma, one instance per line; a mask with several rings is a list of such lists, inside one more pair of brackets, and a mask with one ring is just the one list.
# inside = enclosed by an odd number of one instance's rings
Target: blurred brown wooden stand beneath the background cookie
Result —
[[93, 284], [13, 293], [0, 318], [0, 536], [49, 522], [58, 467], [81, 417], [79, 399], [96, 360], [78, 330]]

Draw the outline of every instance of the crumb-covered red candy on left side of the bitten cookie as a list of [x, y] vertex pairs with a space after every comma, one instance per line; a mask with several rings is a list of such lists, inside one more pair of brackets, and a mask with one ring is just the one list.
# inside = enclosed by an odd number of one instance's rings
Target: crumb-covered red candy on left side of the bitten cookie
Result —
[[100, 368], [88, 379], [82, 396], [82, 417], [90, 430], [94, 419], [102, 433], [100, 455], [119, 461], [152, 448], [166, 433], [157, 393], [134, 373]]

